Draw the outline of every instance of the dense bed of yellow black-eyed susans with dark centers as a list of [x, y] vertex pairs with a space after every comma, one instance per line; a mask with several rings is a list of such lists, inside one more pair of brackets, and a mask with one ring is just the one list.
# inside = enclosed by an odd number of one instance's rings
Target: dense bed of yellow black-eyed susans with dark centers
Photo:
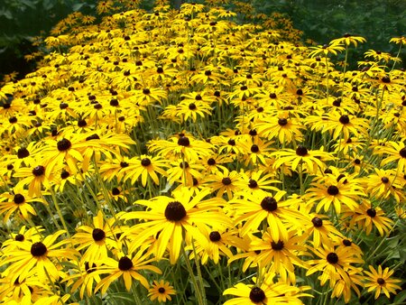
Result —
[[39, 69], [1, 88], [0, 300], [205, 304], [210, 285], [227, 305], [301, 304], [401, 289], [399, 254], [383, 252], [406, 218], [398, 58], [336, 68], [364, 38], [307, 48], [219, 2], [106, 14], [114, 2], [100, 1], [101, 23], [60, 23]]

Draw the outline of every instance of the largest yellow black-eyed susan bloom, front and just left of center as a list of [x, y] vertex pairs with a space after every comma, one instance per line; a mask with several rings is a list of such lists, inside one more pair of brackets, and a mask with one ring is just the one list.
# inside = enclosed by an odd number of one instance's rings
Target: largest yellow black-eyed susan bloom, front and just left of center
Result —
[[198, 231], [199, 226], [230, 226], [231, 220], [218, 207], [223, 204], [223, 201], [204, 199], [209, 193], [209, 189], [203, 189], [191, 197], [189, 189], [183, 188], [173, 192], [173, 198], [159, 196], [149, 200], [136, 201], [137, 204], [147, 207], [148, 210], [129, 212], [123, 216], [124, 219], [143, 219], [143, 222], [125, 232], [125, 235], [132, 234], [132, 232], [136, 234], [134, 242], [130, 245], [130, 252], [143, 245], [143, 242], [149, 237], [159, 233], [154, 255], [157, 259], [161, 259], [168, 249], [171, 263], [176, 263], [185, 233], [204, 244], [206, 237]]

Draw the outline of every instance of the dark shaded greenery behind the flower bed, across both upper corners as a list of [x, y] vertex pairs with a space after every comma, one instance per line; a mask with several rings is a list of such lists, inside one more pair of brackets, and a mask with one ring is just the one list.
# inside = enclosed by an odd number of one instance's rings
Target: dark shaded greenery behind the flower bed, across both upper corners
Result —
[[[193, 1], [172, 0], [171, 5], [179, 8], [182, 3]], [[195, 1], [204, 3], [204, 1]], [[318, 44], [328, 43], [349, 32], [361, 35], [367, 42], [349, 53], [353, 68], [356, 60], [362, 60], [364, 51], [374, 49], [396, 53], [398, 46], [390, 44], [392, 37], [405, 34], [406, 1], [377, 0], [374, 2], [356, 1], [242, 1], [254, 6], [257, 13], [287, 14], [294, 27], [303, 31], [303, 41], [311, 40]], [[145, 2], [144, 2], [145, 3]], [[232, 7], [236, 1], [230, 1]], [[51, 27], [68, 14], [80, 11], [95, 14], [97, 1], [83, 3], [79, 0], [4, 0], [0, 4], [0, 79], [5, 74], [17, 71], [19, 79], [35, 69], [33, 62], [24, 60], [24, 55], [37, 51], [32, 46], [32, 37], [46, 35]], [[151, 8], [147, 1], [145, 8]], [[406, 54], [401, 59], [405, 66]]]

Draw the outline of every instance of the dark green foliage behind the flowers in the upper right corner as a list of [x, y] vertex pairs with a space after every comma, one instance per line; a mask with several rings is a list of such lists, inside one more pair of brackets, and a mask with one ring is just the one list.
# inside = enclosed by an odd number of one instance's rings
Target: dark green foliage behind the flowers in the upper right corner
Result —
[[[252, 3], [258, 13], [288, 14], [293, 26], [303, 32], [304, 41], [324, 44], [345, 33], [366, 38], [366, 43], [349, 54], [354, 63], [370, 49], [396, 53], [397, 46], [389, 40], [404, 35], [406, 29], [406, 2], [403, 0], [255, 0]], [[405, 54], [402, 61], [405, 67]]]

